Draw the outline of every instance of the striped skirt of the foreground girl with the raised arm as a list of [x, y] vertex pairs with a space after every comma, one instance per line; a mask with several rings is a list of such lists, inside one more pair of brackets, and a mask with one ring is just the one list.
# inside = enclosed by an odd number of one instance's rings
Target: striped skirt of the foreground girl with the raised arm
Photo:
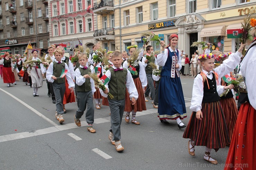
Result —
[[202, 120], [196, 119], [196, 112], [192, 112], [183, 138], [192, 139], [195, 146], [206, 146], [216, 152], [225, 148], [230, 140], [220, 101], [202, 103], [201, 111]]

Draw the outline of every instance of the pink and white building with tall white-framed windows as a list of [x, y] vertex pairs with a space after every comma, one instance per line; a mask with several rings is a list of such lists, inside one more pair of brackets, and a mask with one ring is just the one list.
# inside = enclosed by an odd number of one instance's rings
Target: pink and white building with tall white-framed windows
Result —
[[[92, 0], [49, 0], [49, 23], [51, 44], [66, 44], [72, 50], [79, 41], [84, 49], [91, 48], [95, 17], [87, 10]], [[72, 53], [72, 52], [71, 52]]]

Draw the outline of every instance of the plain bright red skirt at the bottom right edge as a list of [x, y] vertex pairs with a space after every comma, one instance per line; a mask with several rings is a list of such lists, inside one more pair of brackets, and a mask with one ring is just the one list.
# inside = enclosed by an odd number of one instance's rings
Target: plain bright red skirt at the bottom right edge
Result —
[[[256, 167], [256, 110], [247, 102], [239, 109], [225, 170]], [[232, 166], [231, 166], [232, 165]]]

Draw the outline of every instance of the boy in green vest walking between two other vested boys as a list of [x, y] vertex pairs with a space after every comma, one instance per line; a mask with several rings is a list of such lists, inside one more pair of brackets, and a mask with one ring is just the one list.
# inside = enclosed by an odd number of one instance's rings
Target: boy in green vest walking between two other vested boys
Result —
[[93, 93], [96, 91], [94, 81], [89, 76], [91, 69], [86, 67], [86, 63], [88, 62], [86, 54], [80, 54], [78, 61], [80, 66], [75, 70], [78, 106], [75, 113], [75, 124], [79, 127], [81, 126], [80, 118], [84, 114], [87, 104], [88, 107], [85, 113], [86, 122], [88, 123], [87, 130], [91, 133], [95, 133], [96, 131], [92, 128], [94, 122]]

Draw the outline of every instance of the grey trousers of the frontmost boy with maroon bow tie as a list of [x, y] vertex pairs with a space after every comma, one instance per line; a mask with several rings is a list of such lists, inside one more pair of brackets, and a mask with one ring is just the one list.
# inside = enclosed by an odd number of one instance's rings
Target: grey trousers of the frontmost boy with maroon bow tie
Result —
[[113, 133], [113, 140], [121, 139], [121, 122], [125, 110], [125, 99], [110, 100], [108, 99], [111, 111], [111, 128], [110, 132]]

